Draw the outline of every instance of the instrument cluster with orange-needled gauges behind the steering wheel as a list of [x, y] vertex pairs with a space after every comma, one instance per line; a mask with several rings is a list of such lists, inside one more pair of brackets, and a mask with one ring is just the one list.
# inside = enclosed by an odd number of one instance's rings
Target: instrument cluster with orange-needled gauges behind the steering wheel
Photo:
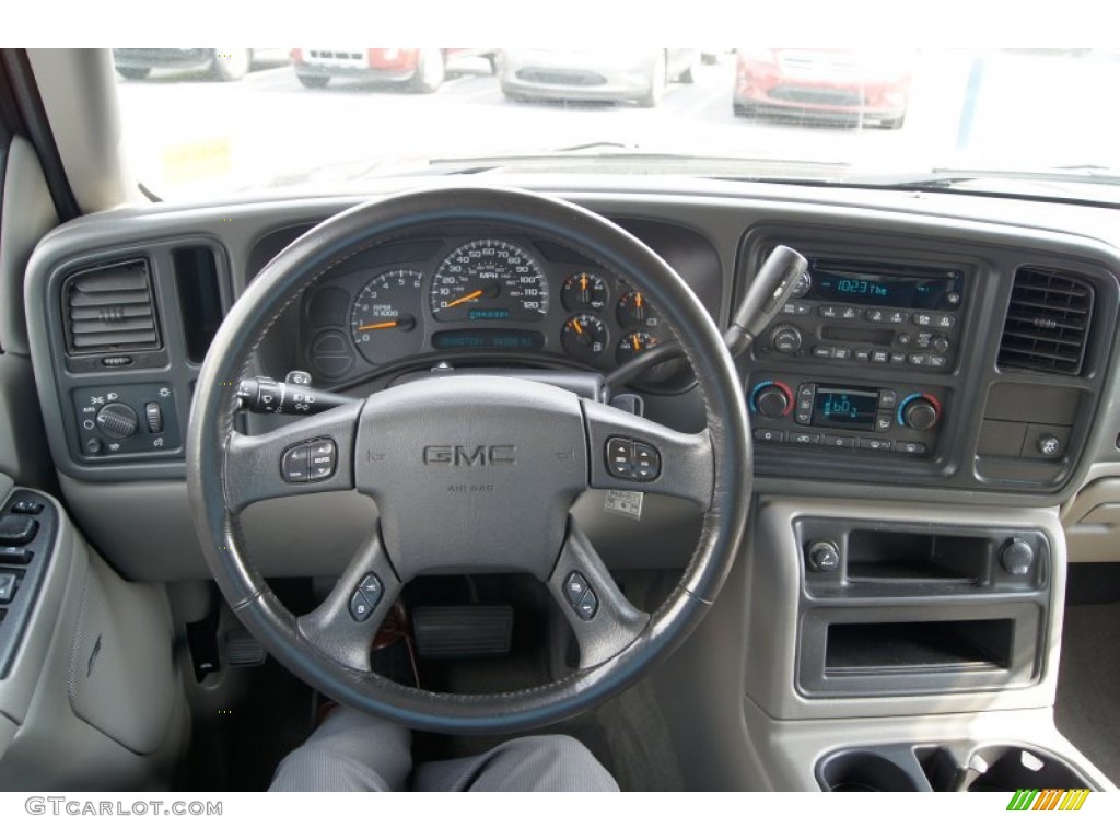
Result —
[[[609, 371], [669, 339], [643, 291], [571, 249], [528, 237], [392, 243], [305, 296], [301, 337], [335, 383], [437, 361]], [[660, 364], [642, 383], [676, 375]]]

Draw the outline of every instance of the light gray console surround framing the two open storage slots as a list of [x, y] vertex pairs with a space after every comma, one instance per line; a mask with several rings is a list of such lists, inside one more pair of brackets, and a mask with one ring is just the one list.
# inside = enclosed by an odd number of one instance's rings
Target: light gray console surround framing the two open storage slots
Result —
[[[961, 597], [934, 598], [913, 595], [907, 587], [900, 591], [884, 587], [877, 596], [860, 599], [855, 604], [830, 600], [813, 596], [804, 600], [801, 596], [805, 571], [804, 549], [797, 540], [795, 523], [802, 517], [842, 519], [866, 523], [867, 528], [886, 529], [892, 524], [914, 524], [917, 528], [936, 531], [959, 530], [962, 526], [977, 529], [1006, 529], [1009, 531], [1040, 532], [1051, 545], [1051, 575], [1048, 596], [1043, 604], [1045, 618], [1040, 619], [1035, 591], [1026, 590], [1021, 596], [1011, 596], [999, 604], [992, 604], [990, 596], [964, 595]], [[834, 502], [821, 500], [793, 500], [763, 497], [759, 500], [754, 523], [754, 540], [746, 559], [750, 577], [750, 597], [744, 605], [748, 615], [746, 693], [762, 709], [774, 718], [829, 718], [829, 717], [878, 717], [892, 715], [916, 715], [930, 708], [943, 711], [980, 711], [986, 709], [1044, 708], [1053, 704], [1056, 687], [1057, 648], [1061, 640], [1061, 622], [1065, 587], [1064, 538], [1057, 522], [1056, 512], [1049, 511], [978, 511], [964, 507], [924, 506], [921, 512], [904, 504], [870, 505], [858, 502]], [[976, 608], [970, 609], [970, 604]], [[984, 605], [984, 606], [981, 606]], [[884, 643], [893, 623], [908, 620], [916, 624], [937, 623], [952, 619], [999, 617], [1008, 622], [1027, 622], [1035, 628], [1020, 628], [1020, 644], [1029, 643], [1032, 655], [1021, 664], [1027, 679], [1019, 679], [1016, 688], [986, 690], [974, 682], [969, 689], [965, 680], [954, 681], [952, 676], [941, 678], [946, 690], [939, 692], [930, 688], [930, 672], [922, 665], [896, 671], [896, 679], [884, 678], [885, 682], [871, 689], [865, 684], [856, 690], [860, 697], [833, 696], [827, 698], [806, 694], [799, 690], [797, 669], [801, 657], [812, 655], [804, 647], [806, 633], [805, 616], [818, 623], [828, 623], [829, 609], [841, 610], [844, 622], [866, 620], [875, 625], [883, 622], [879, 632]], [[818, 612], [822, 610], [822, 612]], [[812, 628], [812, 623], [810, 628]], [[1039, 644], [1037, 648], [1034, 640]], [[765, 642], [759, 642], [765, 640]], [[818, 652], [818, 655], [821, 655]], [[1034, 656], [1038, 655], [1038, 674], [1032, 676]], [[936, 674], [934, 674], [936, 678]], [[818, 678], [813, 683], [814, 693], [820, 693], [827, 681]], [[971, 678], [969, 678], [971, 679]], [[837, 680], [833, 680], [837, 682]], [[839, 680], [843, 683], [843, 680]], [[936, 684], [936, 680], [934, 681]], [[914, 693], [918, 691], [920, 693]], [[824, 691], [825, 694], [834, 693]], [[840, 691], [840, 694], [848, 693]]]

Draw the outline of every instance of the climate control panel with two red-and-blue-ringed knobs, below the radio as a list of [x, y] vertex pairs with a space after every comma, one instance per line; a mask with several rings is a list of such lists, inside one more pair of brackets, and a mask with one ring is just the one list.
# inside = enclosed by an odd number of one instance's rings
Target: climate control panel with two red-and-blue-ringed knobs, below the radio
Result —
[[759, 444], [930, 457], [945, 401], [945, 389], [903, 382], [814, 382], [766, 373], [747, 382]]

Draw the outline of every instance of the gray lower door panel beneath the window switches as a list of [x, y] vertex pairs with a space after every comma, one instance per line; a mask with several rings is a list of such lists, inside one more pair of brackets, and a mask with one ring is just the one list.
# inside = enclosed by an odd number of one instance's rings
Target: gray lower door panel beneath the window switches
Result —
[[116, 578], [56, 512], [48, 575], [0, 681], [0, 720], [13, 727], [0, 788], [166, 785], [188, 728], [166, 595]]

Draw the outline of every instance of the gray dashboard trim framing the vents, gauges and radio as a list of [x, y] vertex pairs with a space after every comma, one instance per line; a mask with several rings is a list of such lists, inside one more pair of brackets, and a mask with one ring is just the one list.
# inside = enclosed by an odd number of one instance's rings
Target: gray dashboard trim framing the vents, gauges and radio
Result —
[[[503, 183], [505, 179], [495, 179]], [[376, 185], [371, 192], [393, 192], [419, 181], [393, 181]], [[452, 183], [452, 181], [441, 181]], [[461, 183], [477, 184], [465, 178]], [[625, 218], [647, 218], [680, 224], [702, 231], [716, 249], [724, 267], [725, 288], [720, 301], [720, 319], [726, 323], [732, 305], [736, 283], [741, 283], [745, 265], [738, 260], [744, 233], [758, 225], [814, 225], [832, 235], [842, 231], [867, 234], [883, 232], [892, 236], [912, 237], [915, 246], [922, 240], [970, 243], [981, 252], [1000, 249], [1045, 253], [1095, 267], [1098, 273], [1116, 274], [1120, 251], [1109, 243], [1112, 214], [1108, 211], [1068, 207], [1055, 214], [1053, 207], [1028, 202], [981, 199], [968, 196], [932, 196], [922, 194], [868, 194], [858, 189], [814, 189], [775, 185], [741, 185], [698, 183], [691, 179], [612, 179], [573, 186], [566, 179], [534, 179], [521, 186], [540, 187], [576, 200], [596, 212]], [[691, 186], [692, 192], [685, 194]], [[227, 205], [174, 207], [159, 205], [134, 207], [96, 214], [68, 223], [48, 234], [37, 249], [28, 273], [28, 321], [31, 347], [36, 358], [54, 358], [46, 299], [49, 278], [60, 264], [84, 259], [91, 252], [134, 252], [144, 243], [169, 239], [216, 240], [228, 258], [231, 295], [248, 282], [248, 259], [253, 245], [269, 233], [299, 224], [314, 224], [334, 212], [345, 209], [370, 192], [354, 197], [320, 197], [283, 199], [268, 197], [260, 203], [234, 199]], [[220, 216], [223, 220], [220, 221]], [[1055, 230], [1061, 224], [1066, 231]], [[1068, 231], [1077, 231], [1076, 234]], [[1112, 357], [1120, 353], [1113, 340]], [[1117, 365], [1101, 371], [1105, 393], [1120, 386]], [[41, 403], [46, 407], [46, 424], [52, 451], [59, 472], [90, 485], [102, 482], [103, 474], [73, 463], [58, 410], [60, 394], [52, 371], [45, 365], [36, 370]], [[1103, 401], [1107, 402], [1107, 401]], [[186, 408], [186, 407], [184, 407]], [[1113, 408], [1113, 411], [1116, 409]], [[1109, 429], [1098, 422], [1089, 451], [1107, 450], [1112, 444]], [[1024, 494], [1004, 489], [976, 491], [960, 488], [911, 488], [881, 484], [836, 484], [787, 477], [759, 477], [759, 492], [844, 498], [858, 494], [866, 500], [906, 500], [912, 503], [983, 504], [999, 507], [1034, 505], [1045, 507], [1068, 497], [1083, 482], [1091, 460], [1083, 459], [1061, 493]], [[179, 464], [130, 465], [113, 478], [181, 480]], [[105, 486], [112, 493], [113, 487]]]

